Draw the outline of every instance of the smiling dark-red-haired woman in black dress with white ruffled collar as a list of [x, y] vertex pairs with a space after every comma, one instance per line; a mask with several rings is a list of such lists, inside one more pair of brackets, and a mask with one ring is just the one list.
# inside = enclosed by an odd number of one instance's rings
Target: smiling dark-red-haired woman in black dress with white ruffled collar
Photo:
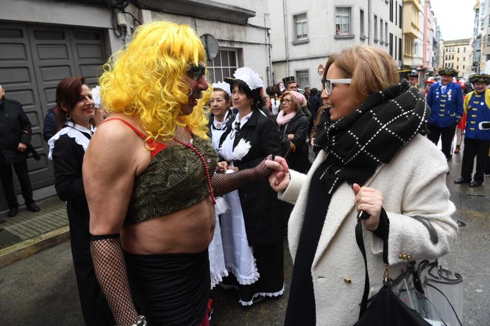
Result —
[[82, 181], [82, 162], [95, 131], [94, 100], [84, 77], [63, 79], [56, 88], [59, 131], [49, 141], [54, 187], [66, 201], [78, 294], [86, 325], [111, 324], [109, 305], [98, 285], [90, 255], [89, 209]]

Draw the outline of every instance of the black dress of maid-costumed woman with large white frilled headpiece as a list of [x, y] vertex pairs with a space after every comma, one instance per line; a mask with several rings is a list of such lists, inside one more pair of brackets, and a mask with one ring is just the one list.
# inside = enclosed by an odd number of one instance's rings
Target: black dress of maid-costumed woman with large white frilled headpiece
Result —
[[[284, 138], [272, 119], [254, 110], [249, 120], [221, 136], [221, 144], [233, 132], [233, 149], [242, 140], [249, 142], [249, 151], [232, 160], [240, 170], [259, 164], [269, 154], [284, 155]], [[230, 135], [231, 137], [231, 135]], [[225, 146], [225, 145], [223, 145]], [[228, 162], [230, 163], [230, 162]], [[252, 303], [257, 295], [279, 296], [284, 292], [283, 220], [279, 214], [277, 194], [268, 181], [257, 182], [238, 189], [248, 245], [253, 247], [260, 277], [252, 284], [239, 284], [235, 277], [223, 279], [224, 285], [237, 286], [242, 304]]]

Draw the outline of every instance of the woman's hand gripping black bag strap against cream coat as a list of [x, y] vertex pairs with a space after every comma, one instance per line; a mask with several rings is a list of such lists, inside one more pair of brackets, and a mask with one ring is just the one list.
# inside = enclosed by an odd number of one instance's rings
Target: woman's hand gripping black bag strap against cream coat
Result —
[[356, 196], [357, 211], [363, 211], [369, 214], [369, 218], [363, 219], [364, 227], [369, 231], [375, 231], [378, 228], [379, 216], [383, 207], [383, 194], [373, 188], [361, 187], [357, 183], [352, 185], [352, 190]]

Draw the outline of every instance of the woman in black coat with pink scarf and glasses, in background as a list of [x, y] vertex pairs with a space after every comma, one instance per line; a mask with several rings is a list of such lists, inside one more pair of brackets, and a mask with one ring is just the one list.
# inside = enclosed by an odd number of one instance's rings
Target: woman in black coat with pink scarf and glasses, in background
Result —
[[296, 91], [286, 91], [281, 97], [281, 110], [273, 118], [279, 125], [279, 130], [291, 141], [291, 149], [286, 156], [290, 169], [300, 173], [308, 173], [311, 163], [308, 160], [308, 118], [301, 111]]

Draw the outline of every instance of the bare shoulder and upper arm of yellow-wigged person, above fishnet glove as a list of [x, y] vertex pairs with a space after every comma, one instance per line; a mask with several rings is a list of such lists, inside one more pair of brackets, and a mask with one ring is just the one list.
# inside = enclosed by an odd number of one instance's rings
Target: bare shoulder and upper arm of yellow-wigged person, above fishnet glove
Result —
[[[126, 121], [133, 126], [138, 123]], [[92, 234], [120, 232], [134, 178], [147, 168], [150, 159], [144, 139], [122, 121], [106, 121], [99, 126], [82, 166]]]

